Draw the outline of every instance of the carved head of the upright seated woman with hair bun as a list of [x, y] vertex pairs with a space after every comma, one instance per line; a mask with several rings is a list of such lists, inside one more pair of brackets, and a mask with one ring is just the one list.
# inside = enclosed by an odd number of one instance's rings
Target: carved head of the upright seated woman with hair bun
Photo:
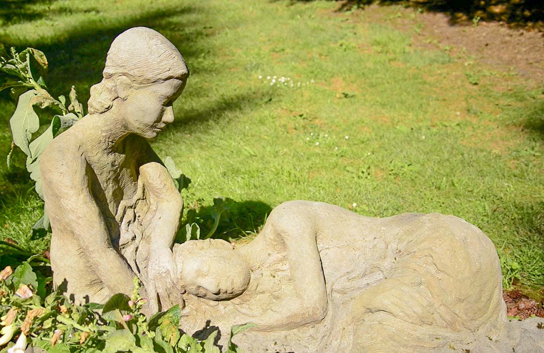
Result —
[[118, 105], [128, 132], [152, 138], [174, 120], [172, 103], [189, 77], [185, 60], [162, 34], [135, 27], [109, 48], [100, 83], [91, 87], [89, 113]]

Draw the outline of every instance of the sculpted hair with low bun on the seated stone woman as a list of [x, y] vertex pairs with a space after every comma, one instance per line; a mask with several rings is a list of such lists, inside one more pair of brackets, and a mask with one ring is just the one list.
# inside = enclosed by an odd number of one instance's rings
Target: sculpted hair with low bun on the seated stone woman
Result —
[[135, 27], [118, 35], [109, 48], [102, 81], [91, 87], [89, 114], [104, 113], [119, 98], [116, 78], [125, 76], [134, 86], [182, 81], [189, 69], [177, 48], [162, 34], [146, 27]]

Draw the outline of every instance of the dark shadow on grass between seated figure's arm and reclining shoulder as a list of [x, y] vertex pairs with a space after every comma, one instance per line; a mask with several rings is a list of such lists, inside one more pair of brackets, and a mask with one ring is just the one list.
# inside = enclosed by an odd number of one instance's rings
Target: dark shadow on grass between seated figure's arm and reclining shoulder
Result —
[[[225, 205], [228, 210], [221, 215], [217, 230], [212, 236], [214, 239], [237, 241], [248, 235], [258, 233], [272, 211], [270, 205], [255, 200], [238, 202], [227, 198], [225, 199]], [[184, 228], [185, 224], [194, 222], [199, 225], [200, 235], [203, 237], [213, 227], [213, 207], [200, 207], [195, 211], [196, 214], [184, 222], [180, 229]]]

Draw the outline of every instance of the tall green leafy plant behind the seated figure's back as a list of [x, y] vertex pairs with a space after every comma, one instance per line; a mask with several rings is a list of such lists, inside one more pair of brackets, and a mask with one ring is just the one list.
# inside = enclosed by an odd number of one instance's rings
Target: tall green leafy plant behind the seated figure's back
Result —
[[[9, 89], [11, 97], [17, 101], [15, 112], [9, 120], [11, 150], [7, 157], [8, 168], [11, 168], [11, 156], [16, 147], [26, 155], [26, 168], [30, 178], [35, 181], [35, 190], [44, 198], [40, 180], [40, 157], [47, 145], [59, 133], [68, 129], [84, 115], [83, 106], [77, 100], [77, 93], [72, 86], [70, 104], [66, 107], [66, 98], [58, 99], [47, 91], [45, 76], [47, 75], [47, 58], [44, 53], [34, 48], [26, 48], [16, 52], [15, 48], [6, 48], [0, 44], [0, 91]], [[55, 114], [46, 119], [45, 114], [38, 115], [35, 109], [50, 108]], [[45, 129], [41, 129], [41, 127]], [[47, 215], [40, 218], [33, 227], [34, 233], [42, 233], [49, 228]]]

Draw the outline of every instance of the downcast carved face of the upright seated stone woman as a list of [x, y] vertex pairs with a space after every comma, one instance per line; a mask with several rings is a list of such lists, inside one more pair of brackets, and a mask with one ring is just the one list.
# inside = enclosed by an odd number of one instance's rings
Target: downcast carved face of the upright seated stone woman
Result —
[[181, 95], [187, 81], [168, 81], [135, 87], [122, 102], [129, 132], [145, 138], [156, 137], [174, 121], [172, 104]]

